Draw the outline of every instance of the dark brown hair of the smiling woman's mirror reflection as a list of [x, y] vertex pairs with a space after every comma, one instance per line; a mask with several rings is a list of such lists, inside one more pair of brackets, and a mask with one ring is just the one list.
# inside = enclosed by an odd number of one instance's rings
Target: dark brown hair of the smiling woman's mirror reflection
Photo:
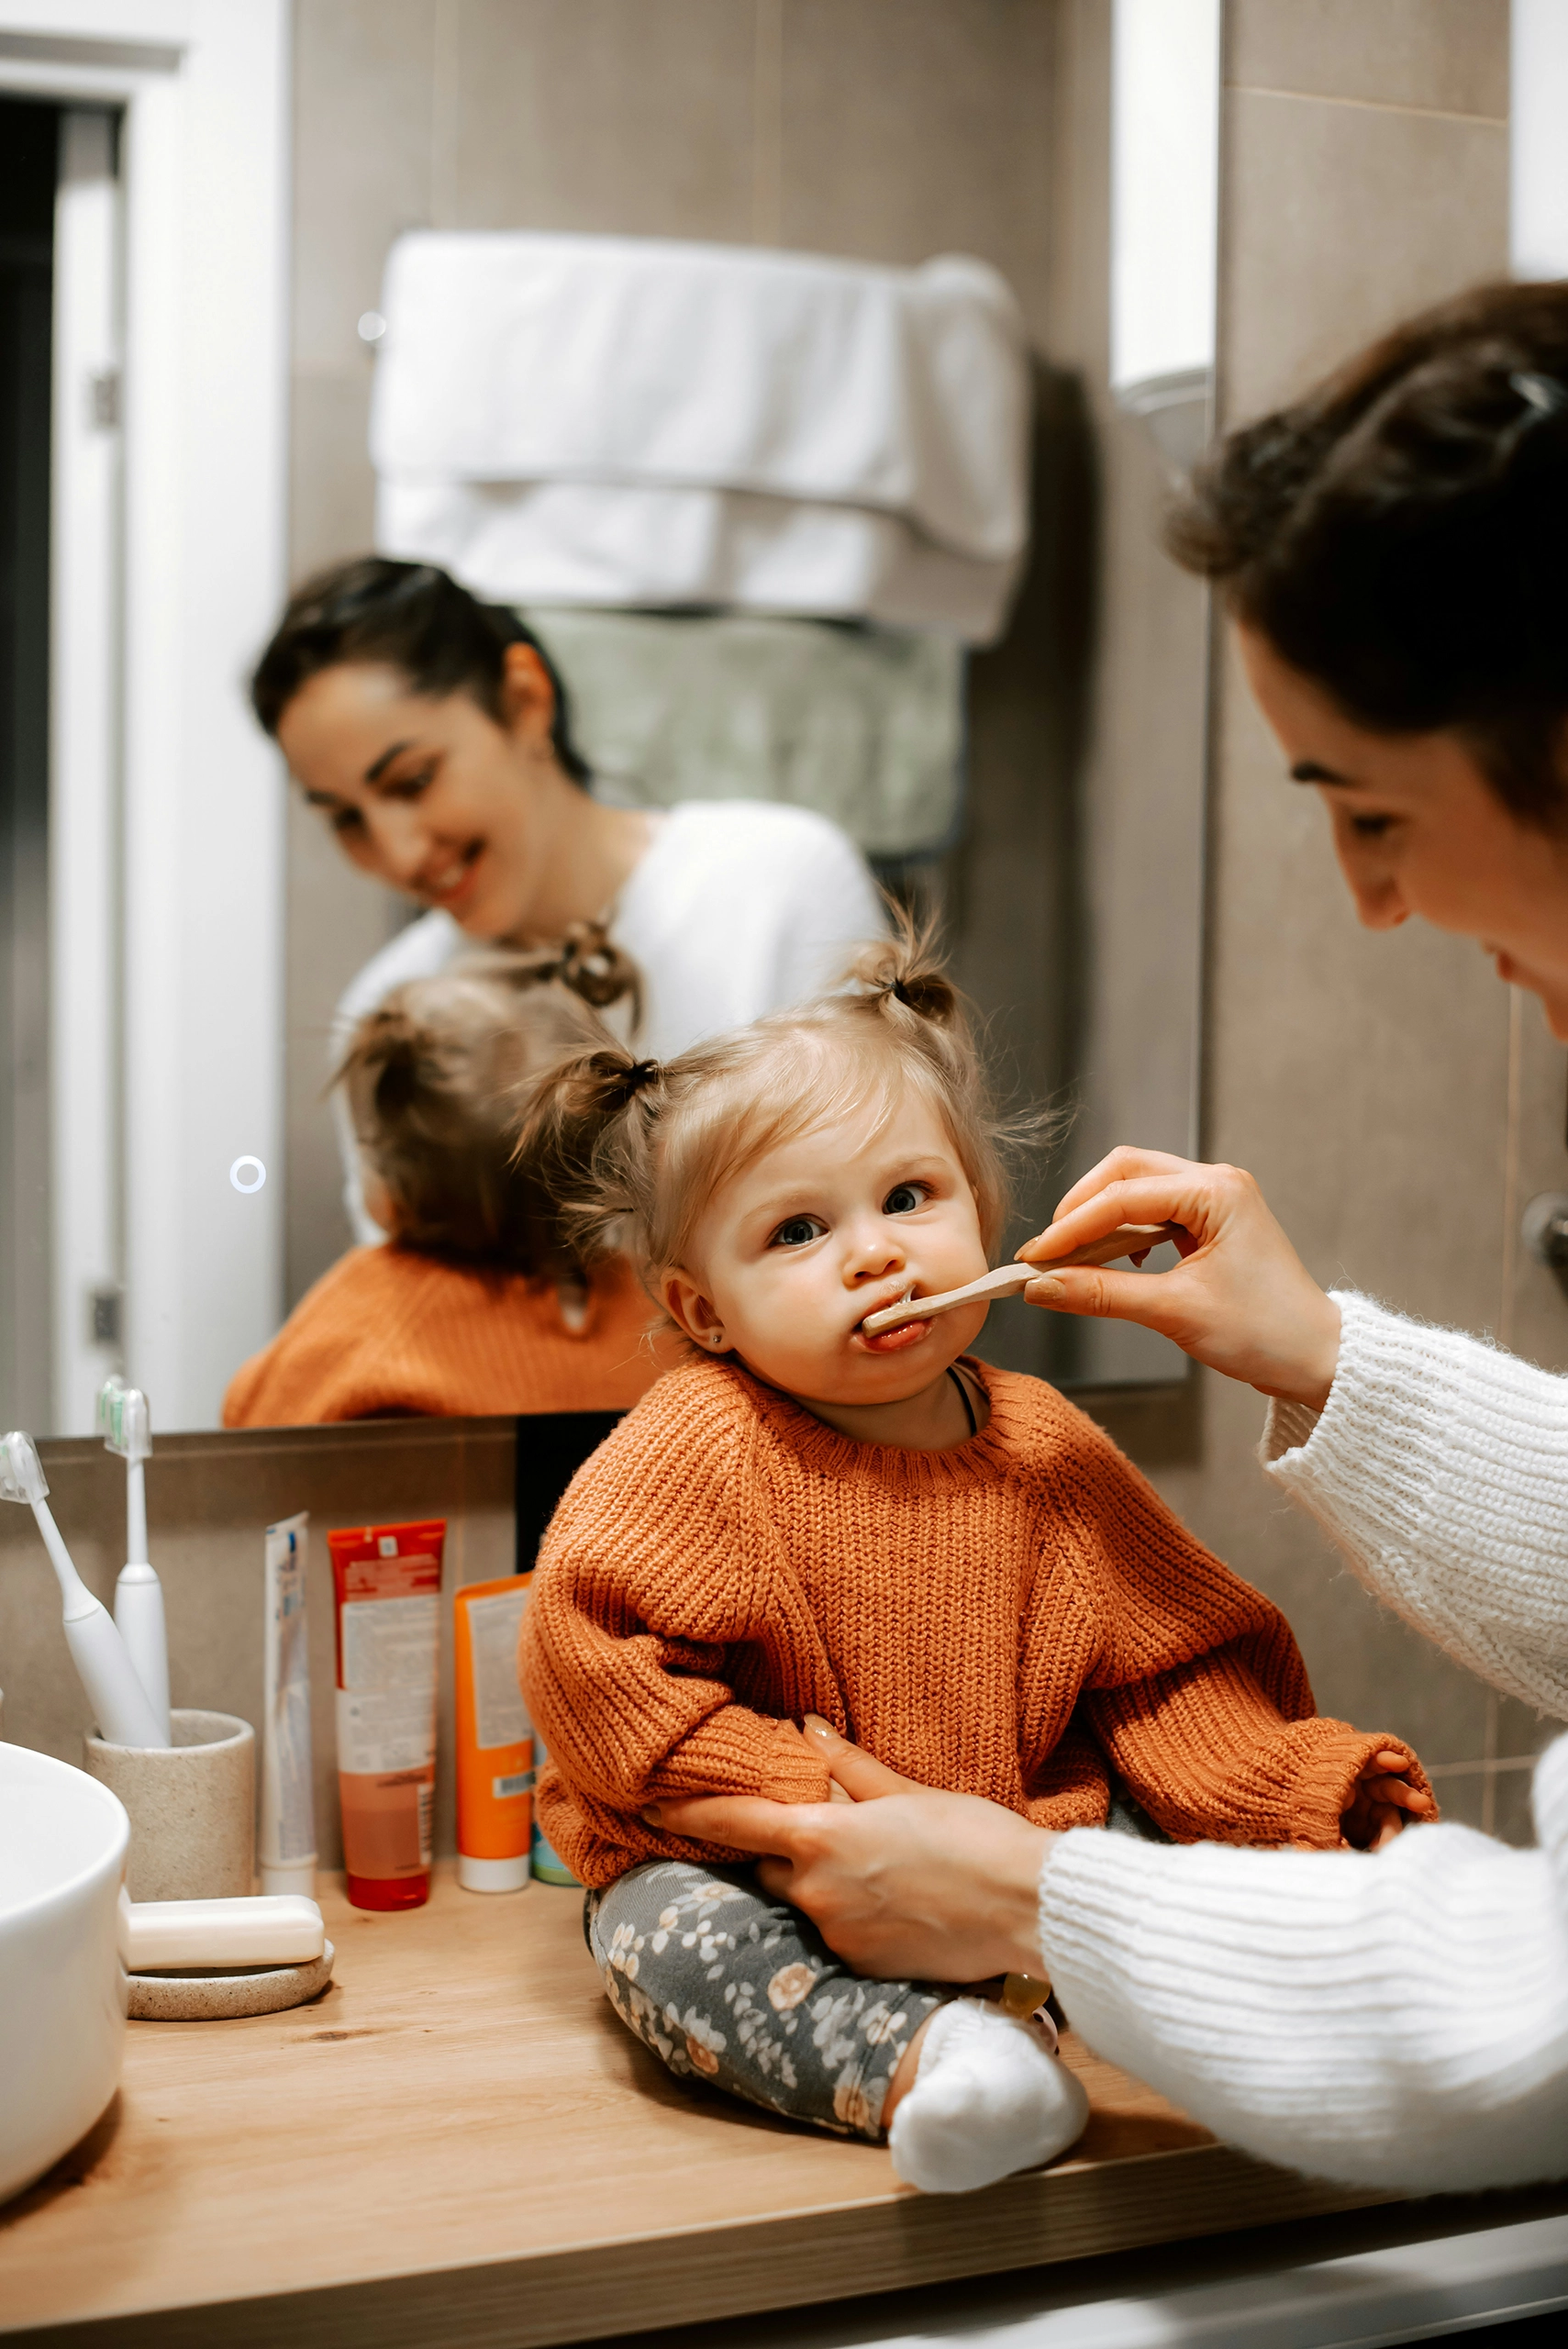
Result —
[[251, 709], [277, 735], [303, 684], [343, 660], [361, 660], [401, 669], [411, 691], [430, 700], [467, 693], [500, 721], [509, 644], [530, 644], [540, 655], [556, 698], [554, 754], [575, 782], [587, 782], [589, 763], [573, 742], [566, 686], [540, 639], [505, 604], [481, 604], [437, 564], [357, 554], [307, 578], [256, 662]]

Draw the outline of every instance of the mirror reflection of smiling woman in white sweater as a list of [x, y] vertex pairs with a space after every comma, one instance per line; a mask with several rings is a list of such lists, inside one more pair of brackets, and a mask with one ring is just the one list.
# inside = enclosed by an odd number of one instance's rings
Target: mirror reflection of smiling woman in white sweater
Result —
[[[343, 996], [333, 1059], [392, 987], [474, 944], [606, 923], [641, 970], [634, 1041], [667, 1059], [815, 994], [883, 928], [864, 860], [807, 808], [592, 799], [542, 646], [434, 564], [364, 557], [307, 580], [251, 702], [350, 862], [427, 909]], [[373, 1243], [343, 1109], [338, 1139], [354, 1238]]]

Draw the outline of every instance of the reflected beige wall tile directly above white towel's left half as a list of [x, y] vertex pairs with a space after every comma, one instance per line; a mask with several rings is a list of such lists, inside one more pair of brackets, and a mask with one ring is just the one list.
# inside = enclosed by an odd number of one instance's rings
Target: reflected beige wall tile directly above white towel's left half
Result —
[[458, 0], [437, 226], [751, 237], [751, 0]]

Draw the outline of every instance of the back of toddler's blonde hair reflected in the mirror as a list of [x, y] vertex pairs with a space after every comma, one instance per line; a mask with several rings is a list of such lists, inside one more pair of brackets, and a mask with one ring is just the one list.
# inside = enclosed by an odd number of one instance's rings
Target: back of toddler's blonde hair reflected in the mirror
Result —
[[394, 987], [336, 1071], [394, 1238], [434, 1257], [577, 1278], [582, 1250], [512, 1151], [563, 1059], [615, 1050], [589, 1005], [636, 996], [636, 968], [580, 923], [554, 954], [469, 956]]

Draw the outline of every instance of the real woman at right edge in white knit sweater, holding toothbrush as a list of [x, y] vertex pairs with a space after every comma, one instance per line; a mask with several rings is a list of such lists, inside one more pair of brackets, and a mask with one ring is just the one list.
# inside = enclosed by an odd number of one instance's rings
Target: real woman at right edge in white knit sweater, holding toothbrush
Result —
[[[1476, 937], [1568, 1041], [1568, 287], [1491, 287], [1232, 435], [1174, 531], [1314, 785], [1361, 921]], [[1115, 1151], [1021, 1254], [1183, 1226], [1160, 1276], [1035, 1304], [1176, 1339], [1270, 1395], [1263, 1463], [1359, 1579], [1568, 1717], [1568, 1379], [1326, 1297], [1246, 1174]], [[664, 1806], [878, 1973], [1045, 1971], [1084, 2037], [1265, 2159], [1413, 2192], [1568, 2173], [1568, 1738], [1535, 1851], [1160, 1849], [911, 1790], [812, 1731], [857, 1806]], [[876, 1797], [876, 1799], [869, 1799]]]

